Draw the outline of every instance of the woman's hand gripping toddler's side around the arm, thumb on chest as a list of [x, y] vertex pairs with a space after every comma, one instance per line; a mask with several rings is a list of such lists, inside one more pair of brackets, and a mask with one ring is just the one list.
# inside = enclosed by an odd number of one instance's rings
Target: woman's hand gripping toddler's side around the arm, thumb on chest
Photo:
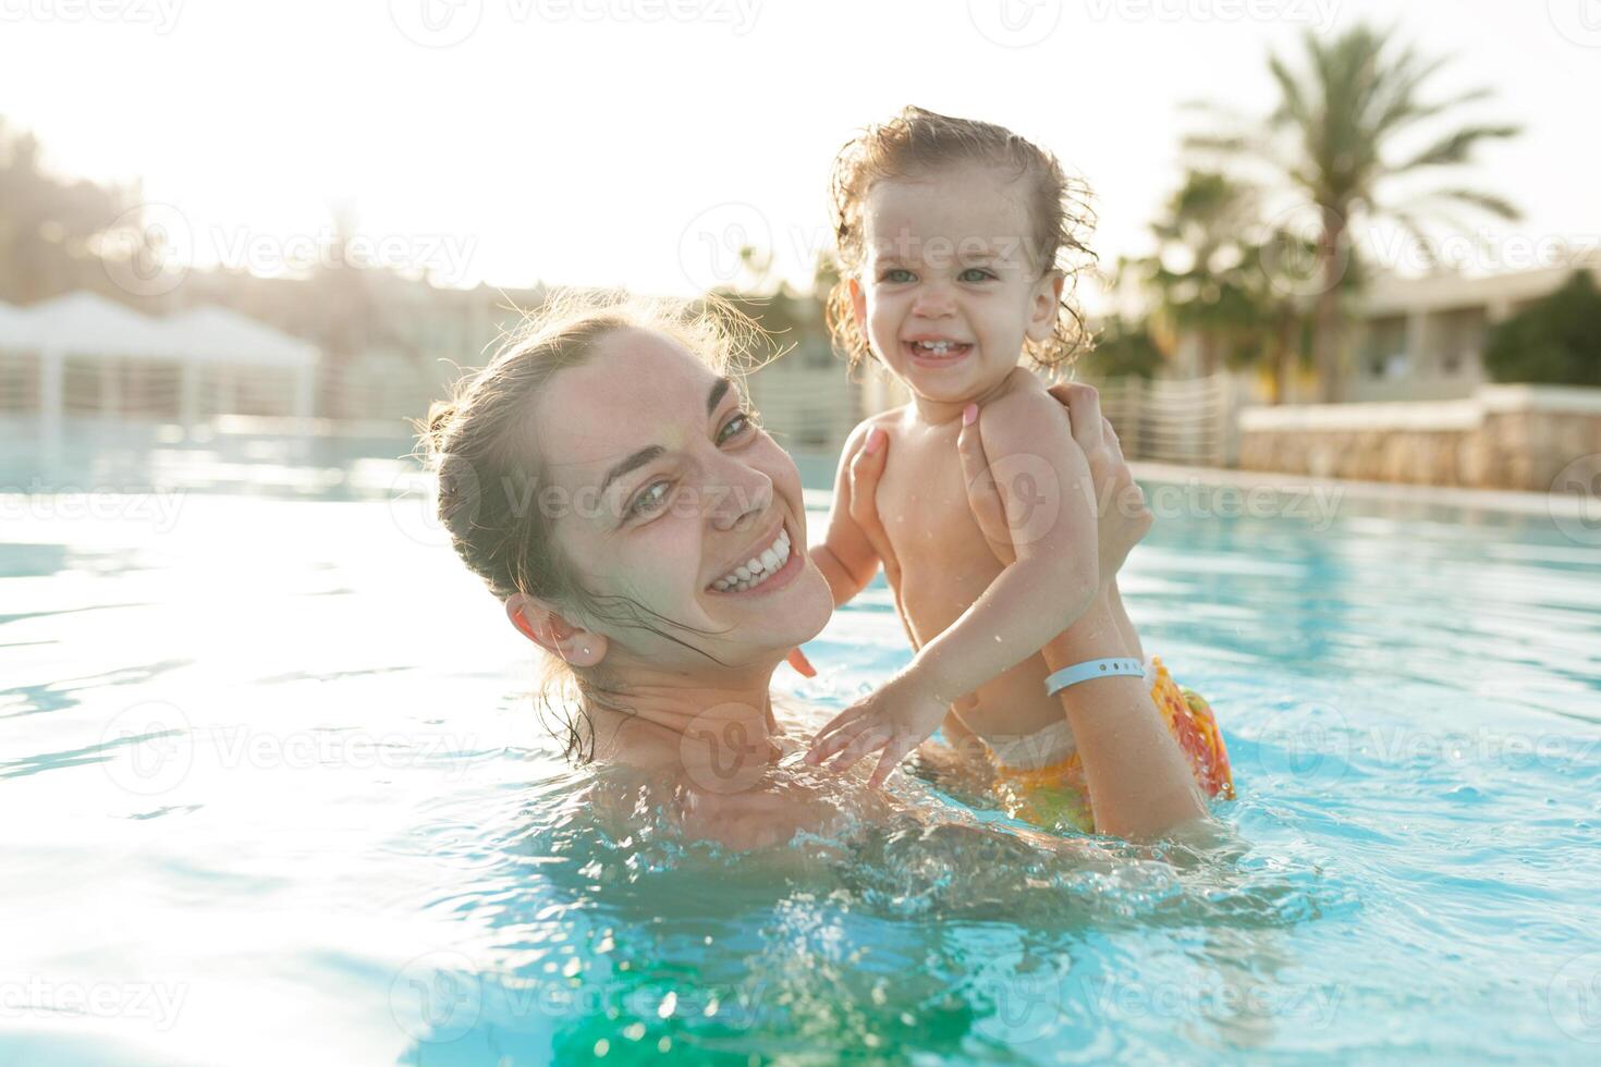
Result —
[[[1100, 582], [1108, 585], [1117, 574], [1129, 552], [1145, 537], [1154, 522], [1145, 506], [1145, 494], [1134, 482], [1129, 462], [1122, 458], [1117, 432], [1100, 413], [1100, 395], [1084, 384], [1053, 386], [1050, 395], [1068, 410], [1073, 426], [1073, 442], [1084, 450], [1090, 480], [1095, 488], [1095, 537], [1098, 547]], [[1012, 563], [1017, 555], [1012, 545], [1005, 504], [989, 475], [989, 461], [978, 434], [978, 419], [964, 419], [956, 438], [962, 475], [967, 480], [967, 504], [972, 507], [978, 528], [989, 541], [991, 550], [1002, 563]]]

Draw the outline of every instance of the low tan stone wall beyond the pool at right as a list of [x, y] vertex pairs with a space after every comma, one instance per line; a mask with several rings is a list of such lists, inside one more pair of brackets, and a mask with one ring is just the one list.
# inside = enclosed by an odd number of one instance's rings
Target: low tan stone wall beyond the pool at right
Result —
[[1239, 466], [1362, 482], [1585, 491], [1601, 477], [1601, 389], [1484, 386], [1468, 400], [1247, 408], [1239, 416]]

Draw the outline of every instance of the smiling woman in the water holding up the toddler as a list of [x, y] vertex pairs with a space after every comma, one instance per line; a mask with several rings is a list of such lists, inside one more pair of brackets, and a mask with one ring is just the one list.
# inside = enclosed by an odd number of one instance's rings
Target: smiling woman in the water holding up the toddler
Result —
[[[434, 405], [427, 445], [456, 552], [551, 653], [548, 693], [576, 704], [570, 753], [628, 768], [687, 835], [748, 848], [895, 803], [797, 766], [804, 723], [775, 712], [773, 670], [833, 598], [807, 560], [796, 464], [728, 378], [725, 325], [682, 306], [556, 301]], [[1098, 491], [1127, 483], [1098, 422], [1074, 438]], [[882, 454], [869, 462], [852, 470], [858, 501]], [[1106, 510], [1100, 555], [1121, 563], [1150, 515]], [[1156, 833], [1204, 813], [1148, 697], [1073, 728], [1098, 827]]]

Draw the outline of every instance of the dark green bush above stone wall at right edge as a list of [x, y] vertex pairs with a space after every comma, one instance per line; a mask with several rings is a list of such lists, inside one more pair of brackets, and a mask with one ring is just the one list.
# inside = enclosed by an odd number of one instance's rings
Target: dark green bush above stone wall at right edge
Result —
[[1491, 331], [1484, 368], [1499, 382], [1601, 386], [1601, 290], [1574, 275]]

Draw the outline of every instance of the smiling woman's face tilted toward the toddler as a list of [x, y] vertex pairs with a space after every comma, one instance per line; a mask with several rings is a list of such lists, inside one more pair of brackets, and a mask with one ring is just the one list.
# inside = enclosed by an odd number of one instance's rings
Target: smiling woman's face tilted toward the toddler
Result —
[[[549, 478], [540, 506], [589, 592], [637, 601], [661, 616], [642, 613], [652, 625], [728, 665], [781, 657], [828, 622], [794, 461], [744, 413], [738, 387], [679, 342], [608, 334], [551, 379], [535, 419]], [[605, 633], [608, 656], [708, 665], [648, 630], [572, 622]]]

